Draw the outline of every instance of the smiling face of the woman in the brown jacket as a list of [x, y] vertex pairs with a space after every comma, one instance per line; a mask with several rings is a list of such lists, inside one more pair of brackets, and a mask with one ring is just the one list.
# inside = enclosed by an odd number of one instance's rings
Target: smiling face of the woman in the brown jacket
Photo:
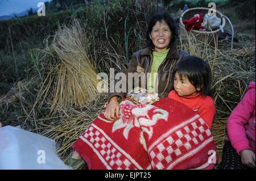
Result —
[[155, 45], [155, 50], [161, 51], [166, 49], [171, 41], [171, 38], [172, 32], [168, 24], [164, 20], [161, 22], [156, 22], [150, 33], [150, 39]]

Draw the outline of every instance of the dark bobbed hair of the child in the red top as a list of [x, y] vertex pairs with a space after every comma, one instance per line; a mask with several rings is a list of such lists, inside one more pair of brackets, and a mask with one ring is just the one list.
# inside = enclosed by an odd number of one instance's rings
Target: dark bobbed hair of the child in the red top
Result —
[[210, 95], [212, 85], [212, 71], [210, 66], [203, 59], [195, 56], [187, 56], [177, 62], [174, 68], [179, 77], [187, 77], [196, 88], [200, 88], [202, 95]]

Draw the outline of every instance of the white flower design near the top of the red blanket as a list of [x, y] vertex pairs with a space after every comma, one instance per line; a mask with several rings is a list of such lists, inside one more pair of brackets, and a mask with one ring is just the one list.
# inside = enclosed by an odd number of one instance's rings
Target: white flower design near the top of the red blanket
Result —
[[[150, 104], [134, 104], [129, 100], [120, 104], [121, 116], [113, 124], [112, 132], [123, 129], [123, 136], [128, 140], [129, 132], [134, 127], [141, 127], [144, 133], [148, 134], [148, 139], [152, 137], [152, 128], [159, 120], [168, 120], [168, 112]], [[141, 134], [143, 137], [143, 135]], [[141, 143], [144, 146], [144, 138]]]

